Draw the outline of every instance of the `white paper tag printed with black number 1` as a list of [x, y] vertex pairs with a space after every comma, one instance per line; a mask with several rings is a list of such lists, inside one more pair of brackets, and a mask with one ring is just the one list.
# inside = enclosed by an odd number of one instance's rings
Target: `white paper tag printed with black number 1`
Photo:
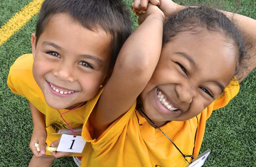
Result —
[[82, 153], [86, 141], [82, 136], [74, 135], [61, 135], [60, 143], [57, 151], [70, 152], [70, 153]]

